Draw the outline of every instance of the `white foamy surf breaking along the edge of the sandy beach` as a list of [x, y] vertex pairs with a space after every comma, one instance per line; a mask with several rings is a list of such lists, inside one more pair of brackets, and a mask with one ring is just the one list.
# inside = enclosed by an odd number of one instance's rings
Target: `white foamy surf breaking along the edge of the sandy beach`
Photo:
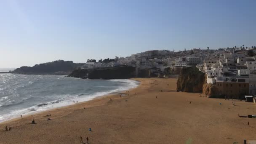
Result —
[[[66, 79], [66, 77], [65, 77], [65, 79]], [[79, 80], [81, 80], [81, 79], [79, 79]], [[31, 80], [31, 81], [35, 81], [35, 80]], [[29, 95], [26, 95], [25, 98], [21, 97], [19, 100], [16, 99], [17, 101], [12, 101], [11, 103], [8, 103], [8, 105], [3, 104], [1, 106], [1, 109], [3, 107], [10, 107], [15, 104], [19, 104], [19, 106], [21, 106], [21, 103], [23, 103], [23, 102], [26, 102], [25, 103], [26, 105], [27, 104], [32, 104], [32, 105], [29, 105], [27, 107], [22, 107], [22, 109], [13, 109], [13, 110], [9, 110], [9, 108], [4, 108], [7, 111], [6, 111], [6, 113], [3, 113], [3, 115], [0, 115], [0, 122], [9, 120], [14, 117], [19, 117], [20, 115], [33, 114], [33, 113], [36, 113], [39, 111], [44, 111], [44, 110], [48, 110], [48, 109], [52, 109], [52, 108], [56, 108], [56, 107], [63, 107], [63, 106], [71, 105], [71, 104], [73, 104], [72, 101], [78, 101], [78, 102], [89, 101], [89, 100], [94, 99], [99, 96], [104, 96], [104, 95], [118, 92], [118, 91], [125, 91], [130, 88], [135, 88], [136, 86], [139, 85], [139, 82], [134, 81], [134, 80], [109, 80], [109, 81], [117, 82], [117, 83], [114, 83], [114, 85], [116, 85], [116, 86], [109, 86], [109, 85], [101, 86], [101, 85], [99, 85], [99, 87], [107, 87], [106, 91], [101, 90], [101, 92], [98, 91], [99, 88], [88, 87], [88, 88], [83, 89], [83, 91], [78, 91], [77, 93], [72, 93], [72, 94], [67, 93], [66, 95], [62, 95], [62, 94], [61, 95], [60, 94], [44, 95], [42, 97], [42, 99], [40, 99], [40, 100], [44, 99], [45, 102], [41, 102], [41, 103], [40, 102], [30, 103], [30, 101], [37, 100], [37, 97], [33, 97], [33, 96], [30, 97]], [[120, 83], [122, 83], [122, 84], [119, 85]], [[47, 92], [47, 91], [45, 91], [45, 92]], [[93, 92], [93, 93], [91, 93], [91, 92]], [[42, 91], [40, 91], [40, 93], [42, 93]], [[33, 98], [36, 98], [36, 99], [33, 99]], [[38, 97], [38, 98], [40, 98], [40, 97]], [[2, 98], [2, 99], [5, 99], [5, 98]], [[8, 98], [6, 98], [5, 100], [7, 100], [7, 99]], [[51, 99], [51, 100], [49, 102], [47, 102], [47, 100], [49, 100], [49, 99]], [[54, 99], [56, 99], [56, 100], [54, 100]]]

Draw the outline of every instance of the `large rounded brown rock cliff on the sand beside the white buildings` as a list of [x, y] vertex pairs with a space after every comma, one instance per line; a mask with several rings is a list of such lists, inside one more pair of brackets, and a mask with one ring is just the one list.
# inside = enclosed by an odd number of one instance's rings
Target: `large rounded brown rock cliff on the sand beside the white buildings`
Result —
[[202, 93], [206, 81], [207, 75], [199, 71], [197, 67], [184, 67], [179, 74], [177, 91]]

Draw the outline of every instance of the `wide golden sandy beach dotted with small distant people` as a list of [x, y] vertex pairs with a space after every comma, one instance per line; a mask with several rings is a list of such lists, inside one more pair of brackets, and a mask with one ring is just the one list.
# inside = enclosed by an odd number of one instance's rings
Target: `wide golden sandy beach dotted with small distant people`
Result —
[[[80, 136], [85, 143], [88, 137], [89, 144], [243, 144], [244, 139], [256, 140], [256, 119], [238, 117], [238, 113], [255, 115], [253, 103], [235, 100], [234, 106], [232, 99], [176, 92], [174, 78], [133, 80], [141, 85], [122, 97], [113, 94], [0, 123], [0, 144], [80, 144]], [[36, 124], [31, 124], [32, 119]], [[6, 125], [13, 130], [5, 131]]]

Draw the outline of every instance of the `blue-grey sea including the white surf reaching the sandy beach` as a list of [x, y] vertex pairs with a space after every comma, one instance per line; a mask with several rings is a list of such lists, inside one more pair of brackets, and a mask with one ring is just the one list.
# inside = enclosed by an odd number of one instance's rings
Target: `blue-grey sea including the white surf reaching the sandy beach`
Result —
[[63, 75], [0, 74], [0, 122], [135, 88], [133, 80], [90, 80]]

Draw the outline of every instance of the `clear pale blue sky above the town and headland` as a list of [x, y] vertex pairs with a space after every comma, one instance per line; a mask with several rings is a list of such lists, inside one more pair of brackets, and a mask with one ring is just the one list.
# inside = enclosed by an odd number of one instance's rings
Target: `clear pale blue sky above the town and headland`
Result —
[[256, 0], [0, 0], [0, 67], [256, 46]]

